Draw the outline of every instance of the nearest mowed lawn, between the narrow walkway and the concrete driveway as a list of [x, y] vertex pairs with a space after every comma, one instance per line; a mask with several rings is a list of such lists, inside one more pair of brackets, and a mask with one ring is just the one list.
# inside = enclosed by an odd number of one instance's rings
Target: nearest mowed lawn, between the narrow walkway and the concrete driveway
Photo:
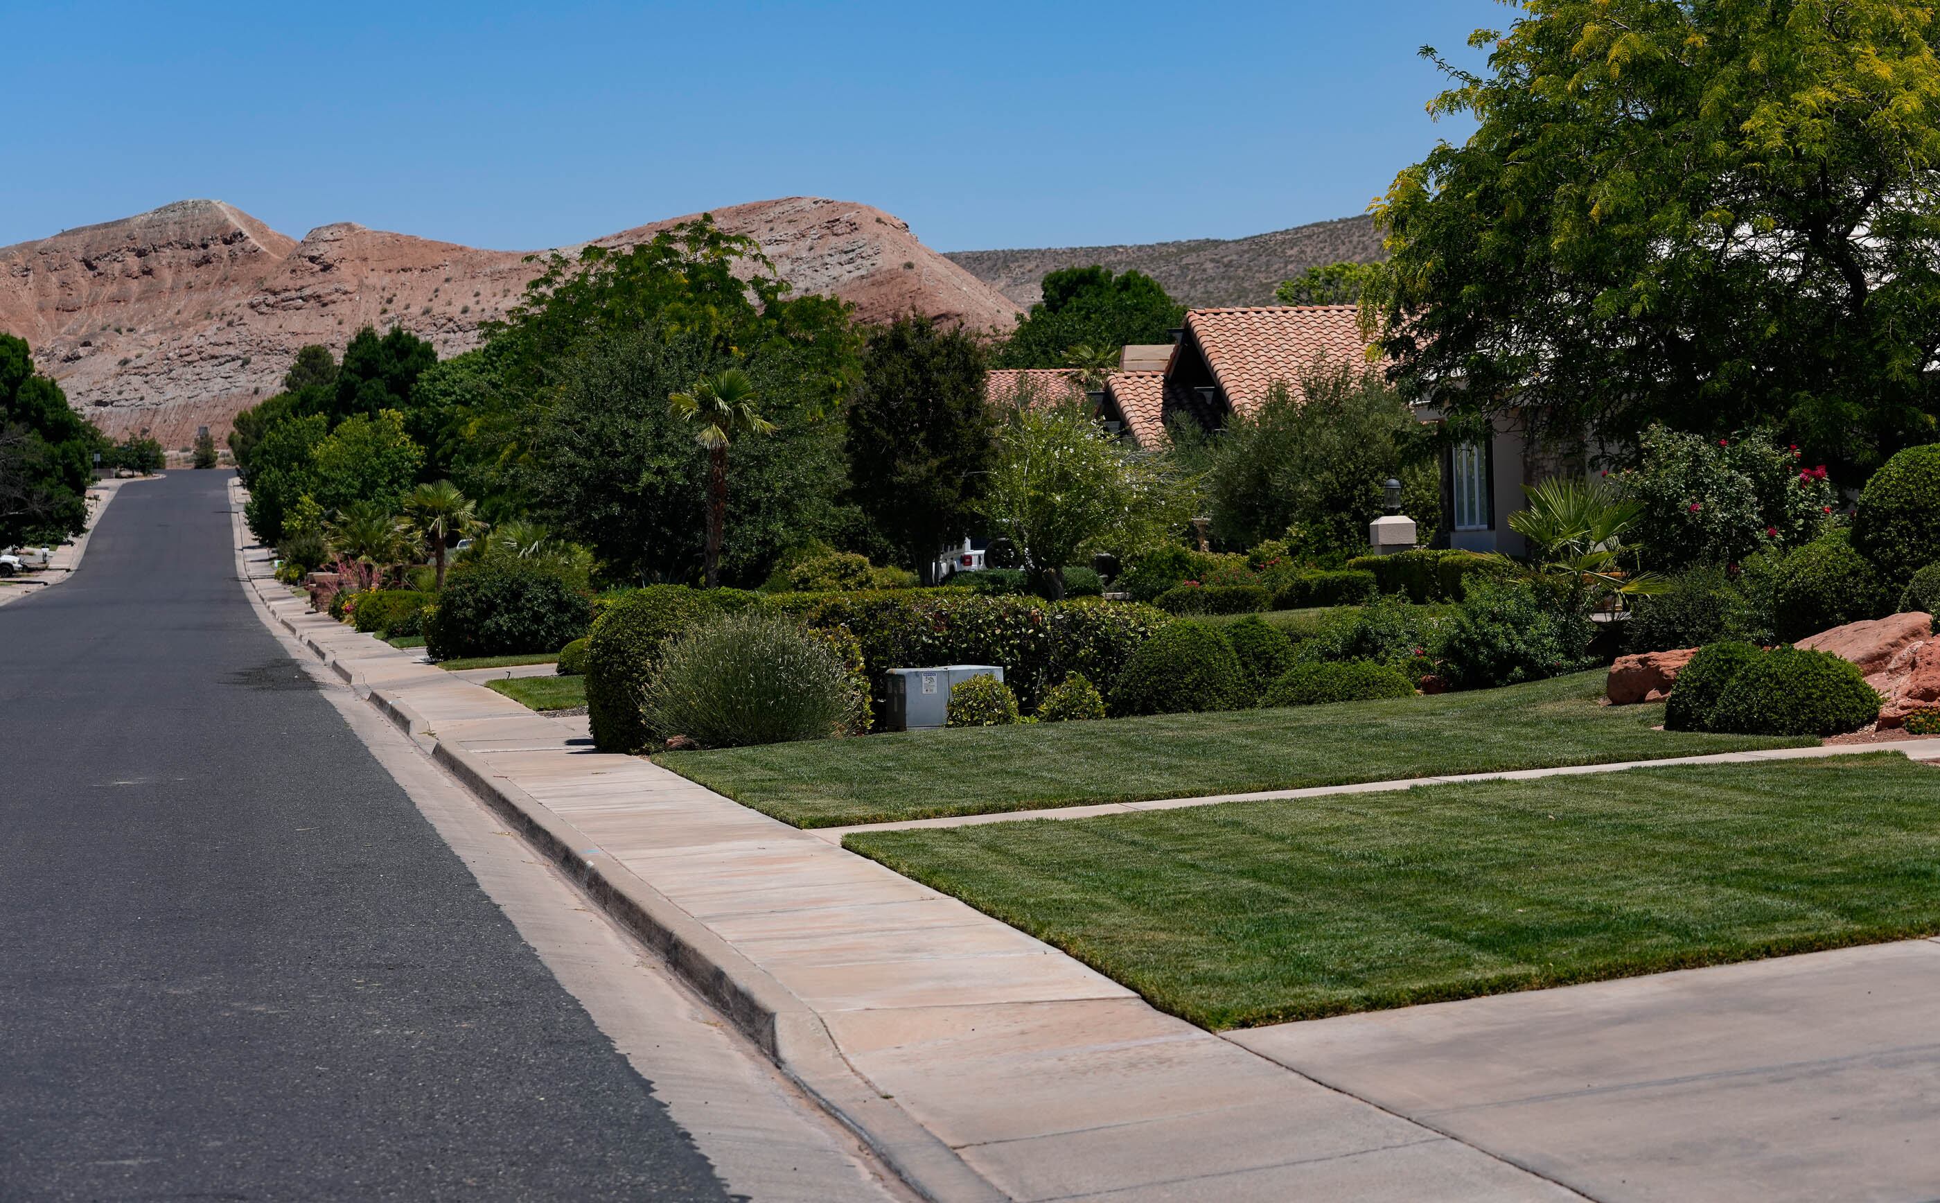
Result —
[[846, 848], [1209, 1028], [1940, 931], [1940, 768], [1633, 768]]

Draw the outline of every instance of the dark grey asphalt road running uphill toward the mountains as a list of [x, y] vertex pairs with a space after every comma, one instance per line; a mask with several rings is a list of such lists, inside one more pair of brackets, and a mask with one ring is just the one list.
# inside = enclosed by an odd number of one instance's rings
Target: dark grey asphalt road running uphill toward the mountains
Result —
[[0, 609], [0, 1199], [726, 1199], [256, 619], [227, 479]]

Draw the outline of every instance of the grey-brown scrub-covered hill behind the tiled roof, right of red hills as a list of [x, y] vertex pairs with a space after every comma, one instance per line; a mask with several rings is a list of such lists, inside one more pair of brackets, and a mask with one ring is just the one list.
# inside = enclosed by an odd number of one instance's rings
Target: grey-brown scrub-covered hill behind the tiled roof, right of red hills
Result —
[[1044, 297], [1040, 281], [1059, 268], [1102, 264], [1114, 272], [1137, 268], [1185, 305], [1273, 305], [1273, 289], [1308, 268], [1375, 262], [1381, 235], [1374, 217], [1341, 217], [1278, 229], [1251, 239], [1191, 239], [1145, 246], [1057, 246], [1044, 250], [951, 250], [945, 258], [968, 268], [1011, 301], [1030, 307]]

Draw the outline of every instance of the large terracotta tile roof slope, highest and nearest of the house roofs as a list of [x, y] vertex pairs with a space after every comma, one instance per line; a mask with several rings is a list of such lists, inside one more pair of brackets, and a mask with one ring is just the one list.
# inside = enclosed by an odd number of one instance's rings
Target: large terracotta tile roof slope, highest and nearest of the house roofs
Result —
[[1247, 305], [1193, 309], [1187, 338], [1212, 369], [1212, 378], [1240, 413], [1267, 398], [1275, 380], [1300, 392], [1300, 376], [1317, 361], [1362, 365], [1368, 340], [1352, 305]]

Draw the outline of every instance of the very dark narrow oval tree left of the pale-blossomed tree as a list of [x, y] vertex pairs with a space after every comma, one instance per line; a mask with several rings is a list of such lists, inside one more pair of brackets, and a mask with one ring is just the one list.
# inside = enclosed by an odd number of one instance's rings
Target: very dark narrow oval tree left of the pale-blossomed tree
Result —
[[984, 343], [962, 328], [900, 318], [877, 330], [850, 400], [850, 497], [933, 584], [937, 553], [970, 534], [995, 462], [997, 417]]

